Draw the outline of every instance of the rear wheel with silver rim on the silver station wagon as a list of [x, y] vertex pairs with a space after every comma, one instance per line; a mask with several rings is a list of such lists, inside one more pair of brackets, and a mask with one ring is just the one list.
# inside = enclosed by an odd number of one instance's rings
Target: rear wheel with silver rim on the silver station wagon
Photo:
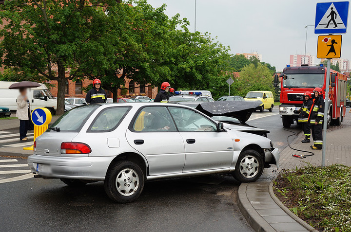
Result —
[[[125, 178], [121, 178], [124, 175]], [[135, 201], [144, 188], [144, 174], [132, 161], [119, 161], [112, 164], [104, 180], [105, 192], [115, 202]], [[123, 185], [126, 186], [123, 188]]]

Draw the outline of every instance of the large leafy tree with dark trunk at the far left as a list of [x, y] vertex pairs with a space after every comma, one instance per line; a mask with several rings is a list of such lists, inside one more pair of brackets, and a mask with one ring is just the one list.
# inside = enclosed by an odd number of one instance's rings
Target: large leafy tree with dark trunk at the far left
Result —
[[105, 8], [115, 4], [116, 0], [5, 1], [0, 9], [2, 66], [16, 73], [12, 78], [57, 81], [57, 114], [62, 114], [66, 79], [92, 74], [83, 60], [105, 61], [99, 38], [108, 26]]

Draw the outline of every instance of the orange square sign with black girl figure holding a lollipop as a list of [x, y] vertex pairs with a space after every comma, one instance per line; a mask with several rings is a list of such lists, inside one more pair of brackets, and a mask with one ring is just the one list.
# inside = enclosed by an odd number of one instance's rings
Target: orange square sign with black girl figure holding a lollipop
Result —
[[318, 36], [317, 58], [340, 58], [341, 35]]

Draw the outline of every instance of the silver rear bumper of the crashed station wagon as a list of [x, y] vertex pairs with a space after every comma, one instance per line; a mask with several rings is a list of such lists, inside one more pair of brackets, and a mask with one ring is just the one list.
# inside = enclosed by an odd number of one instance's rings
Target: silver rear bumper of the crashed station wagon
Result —
[[[53, 157], [32, 155], [28, 157], [28, 166], [32, 173], [45, 178], [70, 178], [104, 180], [107, 169], [115, 157]], [[50, 172], [36, 170], [36, 163], [50, 166]]]

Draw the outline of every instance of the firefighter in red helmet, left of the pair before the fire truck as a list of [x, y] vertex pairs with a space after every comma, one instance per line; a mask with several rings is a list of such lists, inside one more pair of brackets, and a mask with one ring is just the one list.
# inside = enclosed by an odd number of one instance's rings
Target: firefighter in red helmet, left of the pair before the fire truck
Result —
[[304, 101], [302, 103], [302, 107], [299, 110], [299, 118], [298, 122], [302, 124], [303, 131], [305, 133], [305, 139], [301, 141], [302, 143], [311, 143], [311, 123], [309, 122], [310, 118], [310, 110], [313, 105], [312, 101], [312, 93], [307, 91], [304, 93]]

